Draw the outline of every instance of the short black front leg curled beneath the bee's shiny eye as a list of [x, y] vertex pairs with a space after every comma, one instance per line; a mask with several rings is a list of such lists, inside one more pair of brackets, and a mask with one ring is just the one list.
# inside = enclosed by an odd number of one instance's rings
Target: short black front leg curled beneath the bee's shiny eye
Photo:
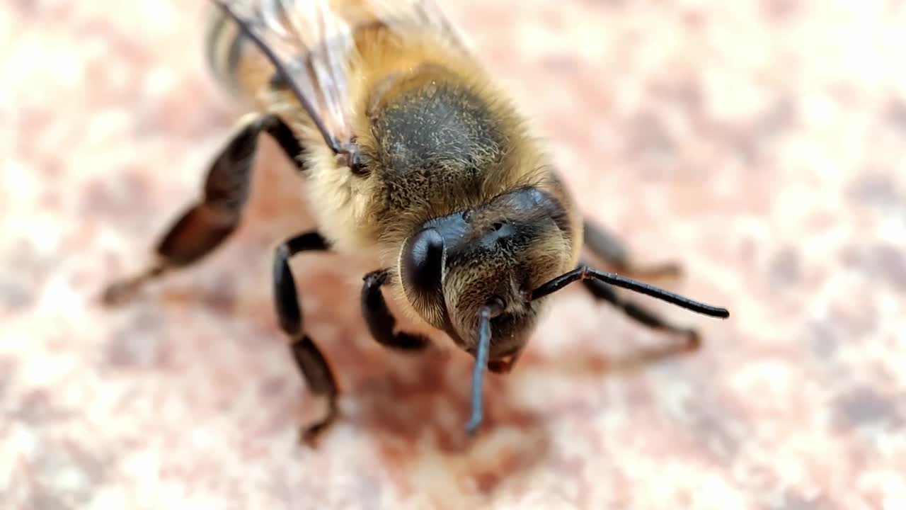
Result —
[[381, 293], [381, 287], [390, 278], [390, 270], [371, 271], [363, 279], [361, 287], [361, 313], [368, 323], [371, 336], [384, 347], [401, 350], [418, 350], [428, 347], [429, 339], [422, 335], [405, 331], [393, 332], [396, 319], [387, 308], [387, 301]]

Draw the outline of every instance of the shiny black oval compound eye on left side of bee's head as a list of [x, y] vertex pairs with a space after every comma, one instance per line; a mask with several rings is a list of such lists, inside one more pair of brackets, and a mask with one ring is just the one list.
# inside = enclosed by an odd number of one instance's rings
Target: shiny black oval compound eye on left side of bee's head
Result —
[[402, 283], [408, 292], [419, 295], [439, 292], [444, 238], [438, 230], [421, 230], [406, 241], [400, 262]]

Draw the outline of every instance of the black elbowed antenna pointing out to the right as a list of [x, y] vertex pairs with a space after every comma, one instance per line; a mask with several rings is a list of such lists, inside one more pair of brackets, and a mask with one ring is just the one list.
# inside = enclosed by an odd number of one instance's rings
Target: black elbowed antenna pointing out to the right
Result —
[[529, 292], [526, 298], [529, 301], [533, 299], [544, 298], [548, 294], [563, 289], [570, 283], [573, 283], [573, 281], [580, 280], [599, 280], [604, 283], [609, 283], [615, 287], [630, 289], [634, 292], [638, 292], [646, 296], [651, 296], [652, 298], [667, 301], [668, 303], [676, 305], [680, 308], [689, 309], [702, 315], [707, 315], [709, 317], [727, 319], [730, 316], [728, 309], [715, 307], [696, 301], [694, 299], [689, 299], [685, 296], [674, 294], [669, 290], [660, 289], [659, 287], [655, 287], [648, 283], [643, 283], [639, 280], [632, 280], [631, 278], [620, 276], [616, 273], [593, 270], [588, 266], [581, 266], [575, 270], [571, 270], [568, 273], [554, 278], [554, 280], [548, 281], [541, 287], [538, 287], [537, 289]]

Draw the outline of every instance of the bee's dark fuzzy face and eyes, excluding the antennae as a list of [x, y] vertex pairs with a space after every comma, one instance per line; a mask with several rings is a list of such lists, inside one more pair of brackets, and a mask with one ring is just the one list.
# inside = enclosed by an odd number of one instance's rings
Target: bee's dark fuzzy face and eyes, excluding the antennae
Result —
[[474, 210], [427, 221], [403, 245], [400, 275], [407, 299], [431, 325], [475, 353], [478, 319], [491, 301], [490, 358], [522, 348], [543, 301], [532, 289], [570, 269], [571, 232], [543, 191], [524, 188]]

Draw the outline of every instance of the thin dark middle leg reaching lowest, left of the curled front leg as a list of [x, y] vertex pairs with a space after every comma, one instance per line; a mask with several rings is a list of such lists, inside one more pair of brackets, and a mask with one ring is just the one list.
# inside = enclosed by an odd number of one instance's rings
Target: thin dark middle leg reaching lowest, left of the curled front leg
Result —
[[289, 267], [289, 260], [294, 255], [314, 250], [327, 250], [327, 243], [318, 232], [305, 232], [280, 244], [274, 258], [274, 304], [280, 329], [292, 340], [290, 347], [295, 364], [308, 387], [315, 395], [327, 397], [326, 415], [302, 430], [301, 439], [312, 446], [338, 414], [336, 378], [321, 350], [304, 333], [299, 294], [295, 288], [293, 271]]

